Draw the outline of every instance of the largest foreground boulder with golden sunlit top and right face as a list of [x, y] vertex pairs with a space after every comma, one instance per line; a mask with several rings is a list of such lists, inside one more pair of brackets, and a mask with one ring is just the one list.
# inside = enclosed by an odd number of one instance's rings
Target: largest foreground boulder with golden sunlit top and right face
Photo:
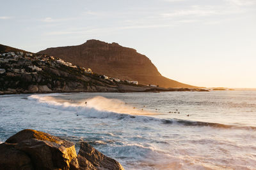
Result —
[[30, 129], [18, 132], [6, 143], [17, 143], [15, 148], [27, 153], [36, 169], [68, 169], [69, 162], [77, 156], [76, 148], [70, 141]]

